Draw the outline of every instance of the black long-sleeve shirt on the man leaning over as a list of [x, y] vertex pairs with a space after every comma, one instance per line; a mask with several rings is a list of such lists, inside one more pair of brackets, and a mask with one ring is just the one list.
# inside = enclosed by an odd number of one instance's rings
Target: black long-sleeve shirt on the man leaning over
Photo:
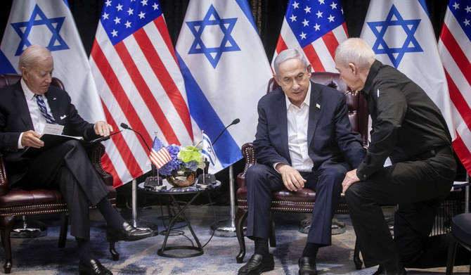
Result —
[[373, 129], [366, 158], [356, 170], [368, 179], [389, 157], [392, 163], [451, 145], [441, 111], [417, 84], [375, 60], [361, 91], [368, 101]]

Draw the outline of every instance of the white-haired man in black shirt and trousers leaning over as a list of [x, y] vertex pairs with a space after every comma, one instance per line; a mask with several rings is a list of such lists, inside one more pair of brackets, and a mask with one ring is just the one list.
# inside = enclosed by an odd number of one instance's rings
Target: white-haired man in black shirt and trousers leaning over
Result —
[[[342, 182], [363, 261], [380, 264], [385, 274], [406, 274], [404, 267], [430, 264], [424, 261], [437, 241], [428, 236], [456, 175], [449, 129], [425, 91], [376, 60], [365, 41], [340, 44], [335, 68], [368, 100], [373, 121], [366, 158]], [[388, 157], [392, 165], [383, 167]], [[394, 241], [381, 205], [398, 205]]]

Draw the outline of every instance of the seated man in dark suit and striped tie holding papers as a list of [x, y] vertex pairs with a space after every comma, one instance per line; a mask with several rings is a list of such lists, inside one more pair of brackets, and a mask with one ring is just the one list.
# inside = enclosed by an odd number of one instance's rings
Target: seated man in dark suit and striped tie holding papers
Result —
[[26, 147], [41, 148], [46, 124], [63, 125], [63, 133], [86, 140], [108, 136], [112, 127], [100, 121], [90, 124], [77, 113], [67, 92], [51, 84], [53, 58], [43, 46], [30, 46], [18, 65], [22, 79], [0, 90], [0, 150], [4, 153], [11, 188], [60, 189], [70, 213], [70, 234], [79, 248], [80, 274], [112, 274], [93, 256], [90, 245], [89, 204], [96, 206], [108, 224], [107, 238], [135, 241], [152, 235], [124, 221], [106, 197], [98, 177], [79, 141], [67, 141], [22, 158]]

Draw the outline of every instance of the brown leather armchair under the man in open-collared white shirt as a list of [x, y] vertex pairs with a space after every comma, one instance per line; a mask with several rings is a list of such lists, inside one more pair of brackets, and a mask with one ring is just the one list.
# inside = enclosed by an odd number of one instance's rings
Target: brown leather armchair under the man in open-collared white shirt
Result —
[[[349, 87], [340, 79], [339, 74], [335, 72], [313, 72], [311, 81], [333, 87], [342, 91], [347, 97], [348, 115], [351, 127], [359, 132], [363, 138], [363, 146], [368, 146], [368, 104], [359, 91], [351, 91]], [[267, 93], [276, 89], [278, 84], [275, 79], [270, 79]], [[236, 212], [236, 234], [240, 246], [240, 252], [236, 257], [238, 263], [243, 262], [245, 256], [245, 239], [243, 234], [243, 222], [247, 218], [247, 187], [245, 186], [245, 172], [247, 169], [257, 163], [252, 143], [245, 143], [242, 146], [242, 155], [245, 158], [244, 171], [237, 177], [237, 204]], [[273, 193], [271, 201], [271, 235], [269, 237], [271, 247], [276, 246], [273, 211], [279, 212], [302, 212], [311, 213], [316, 202], [316, 192], [309, 188], [302, 188], [296, 192], [290, 192], [283, 189]], [[342, 196], [337, 213], [348, 213], [347, 203]], [[354, 261], [356, 266], [361, 268], [359, 259], [359, 250], [355, 248]]]

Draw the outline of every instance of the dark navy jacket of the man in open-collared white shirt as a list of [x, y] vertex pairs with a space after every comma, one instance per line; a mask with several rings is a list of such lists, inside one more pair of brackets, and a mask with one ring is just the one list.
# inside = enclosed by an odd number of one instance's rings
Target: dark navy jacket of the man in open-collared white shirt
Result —
[[[278, 88], [263, 96], [258, 104], [258, 113], [257, 134], [253, 143], [257, 162], [292, 165], [283, 90]], [[345, 96], [336, 89], [314, 82], [311, 82], [307, 138], [309, 157], [314, 162], [313, 172], [333, 162], [345, 162], [349, 165], [349, 171], [363, 160], [361, 136], [351, 130]]]

